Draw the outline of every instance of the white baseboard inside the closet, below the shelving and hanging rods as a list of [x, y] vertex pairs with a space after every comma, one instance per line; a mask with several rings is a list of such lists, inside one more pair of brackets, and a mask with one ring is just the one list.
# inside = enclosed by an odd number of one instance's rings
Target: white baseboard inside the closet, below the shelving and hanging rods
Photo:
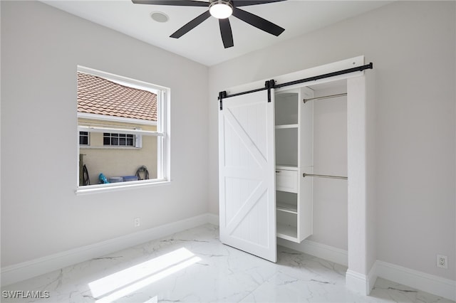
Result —
[[277, 244], [304, 252], [309, 255], [321, 257], [321, 259], [335, 262], [341, 265], [348, 265], [348, 253], [346, 250], [340, 248], [333, 248], [332, 246], [316, 243], [310, 240], [304, 240], [301, 243], [294, 243], [289, 240], [277, 239]]

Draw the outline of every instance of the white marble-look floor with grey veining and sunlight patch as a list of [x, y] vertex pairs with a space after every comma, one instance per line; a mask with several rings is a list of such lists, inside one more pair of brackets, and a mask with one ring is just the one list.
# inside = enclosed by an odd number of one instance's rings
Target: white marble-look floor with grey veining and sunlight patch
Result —
[[[452, 302], [383, 279], [361, 296], [342, 265], [280, 246], [272, 263], [218, 235], [207, 224], [81, 262], [3, 287], [1, 302]], [[14, 291], [28, 298], [5, 298]]]

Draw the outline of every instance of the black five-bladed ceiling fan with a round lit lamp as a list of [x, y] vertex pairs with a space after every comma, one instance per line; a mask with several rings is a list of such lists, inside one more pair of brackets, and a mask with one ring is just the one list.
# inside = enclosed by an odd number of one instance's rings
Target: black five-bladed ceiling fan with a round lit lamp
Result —
[[172, 33], [171, 38], [180, 38], [185, 33], [188, 33], [193, 28], [198, 26], [204, 20], [213, 16], [219, 19], [220, 34], [222, 35], [222, 41], [224, 48], [231, 48], [234, 46], [233, 33], [231, 30], [231, 24], [229, 23], [229, 16], [235, 16], [244, 22], [255, 26], [266, 33], [271, 33], [274, 36], [279, 36], [285, 31], [284, 28], [267, 21], [257, 15], [238, 9], [239, 6], [251, 6], [257, 4], [268, 4], [271, 2], [279, 2], [286, 0], [209, 0], [197, 1], [197, 0], [132, 0], [134, 4], [154, 4], [154, 5], [171, 5], [171, 6], [202, 6], [209, 7], [207, 11], [194, 18], [189, 23], [179, 28], [175, 33]]

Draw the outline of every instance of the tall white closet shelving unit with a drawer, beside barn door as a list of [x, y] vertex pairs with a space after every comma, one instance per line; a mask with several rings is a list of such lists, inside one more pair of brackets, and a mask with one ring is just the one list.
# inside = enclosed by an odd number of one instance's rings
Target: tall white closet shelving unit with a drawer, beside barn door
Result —
[[308, 87], [275, 93], [276, 234], [300, 243], [312, 233], [313, 97]]

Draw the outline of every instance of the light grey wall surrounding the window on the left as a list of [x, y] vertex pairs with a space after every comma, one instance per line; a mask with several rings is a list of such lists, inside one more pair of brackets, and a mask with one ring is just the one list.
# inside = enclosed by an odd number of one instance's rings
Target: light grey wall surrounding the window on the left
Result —
[[[77, 65], [171, 88], [170, 185], [76, 196]], [[1, 76], [2, 267], [207, 212], [204, 65], [46, 4], [1, 1]]]

